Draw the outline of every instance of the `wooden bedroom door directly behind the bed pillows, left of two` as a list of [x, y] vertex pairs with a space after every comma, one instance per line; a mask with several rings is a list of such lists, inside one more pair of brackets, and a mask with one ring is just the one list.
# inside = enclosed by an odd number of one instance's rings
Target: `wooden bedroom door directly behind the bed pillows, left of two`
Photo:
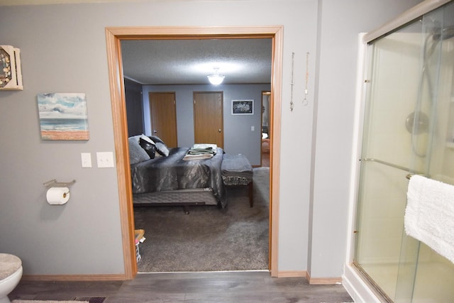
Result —
[[153, 136], [157, 136], [170, 148], [176, 148], [177, 108], [175, 92], [150, 92], [150, 116]]

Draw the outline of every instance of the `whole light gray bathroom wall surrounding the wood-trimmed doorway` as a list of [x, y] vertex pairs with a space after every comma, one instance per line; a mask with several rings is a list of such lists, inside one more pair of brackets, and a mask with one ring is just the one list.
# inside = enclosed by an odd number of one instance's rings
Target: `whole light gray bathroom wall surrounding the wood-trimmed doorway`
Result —
[[[0, 41], [21, 48], [21, 92], [0, 92], [0, 251], [35, 275], [123, 273], [106, 26], [284, 26], [279, 272], [340, 277], [345, 260], [357, 35], [415, 0], [147, 1], [1, 7]], [[369, 13], [370, 12], [370, 13]], [[292, 53], [294, 111], [289, 111]], [[303, 106], [306, 53], [309, 105]], [[319, 59], [319, 61], [316, 61]], [[36, 94], [84, 92], [89, 141], [42, 141]], [[226, 98], [228, 99], [228, 98]], [[80, 153], [94, 167], [82, 168]], [[43, 182], [77, 180], [50, 206]]]

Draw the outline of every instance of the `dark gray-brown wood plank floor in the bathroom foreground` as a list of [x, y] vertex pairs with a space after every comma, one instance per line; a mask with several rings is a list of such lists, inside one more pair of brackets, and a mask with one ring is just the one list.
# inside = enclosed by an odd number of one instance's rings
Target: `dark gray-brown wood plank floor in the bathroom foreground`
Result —
[[[101, 302], [353, 302], [342, 285], [309, 285], [267, 271], [138, 274], [131, 281], [21, 281], [9, 298]], [[105, 299], [104, 299], [105, 297]]]

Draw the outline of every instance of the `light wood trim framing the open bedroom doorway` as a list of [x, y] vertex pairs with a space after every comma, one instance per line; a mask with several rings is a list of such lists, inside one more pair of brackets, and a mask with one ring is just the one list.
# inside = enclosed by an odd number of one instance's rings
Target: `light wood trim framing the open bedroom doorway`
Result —
[[120, 206], [121, 231], [126, 279], [137, 273], [134, 243], [133, 201], [131, 172], [128, 160], [128, 133], [126, 106], [121, 62], [121, 40], [123, 39], [214, 39], [214, 38], [272, 38], [272, 129], [270, 143], [270, 272], [277, 277], [277, 236], [279, 234], [279, 141], [282, 90], [282, 26], [263, 27], [216, 27], [216, 28], [163, 28], [163, 27], [116, 27], [106, 28], [106, 47], [109, 65], [109, 84], [116, 148], [118, 199]]

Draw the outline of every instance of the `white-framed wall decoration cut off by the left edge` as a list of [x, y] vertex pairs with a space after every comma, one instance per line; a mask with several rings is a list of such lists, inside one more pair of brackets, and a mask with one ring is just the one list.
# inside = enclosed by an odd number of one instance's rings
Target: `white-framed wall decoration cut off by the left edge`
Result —
[[0, 45], [0, 90], [22, 90], [21, 50]]

